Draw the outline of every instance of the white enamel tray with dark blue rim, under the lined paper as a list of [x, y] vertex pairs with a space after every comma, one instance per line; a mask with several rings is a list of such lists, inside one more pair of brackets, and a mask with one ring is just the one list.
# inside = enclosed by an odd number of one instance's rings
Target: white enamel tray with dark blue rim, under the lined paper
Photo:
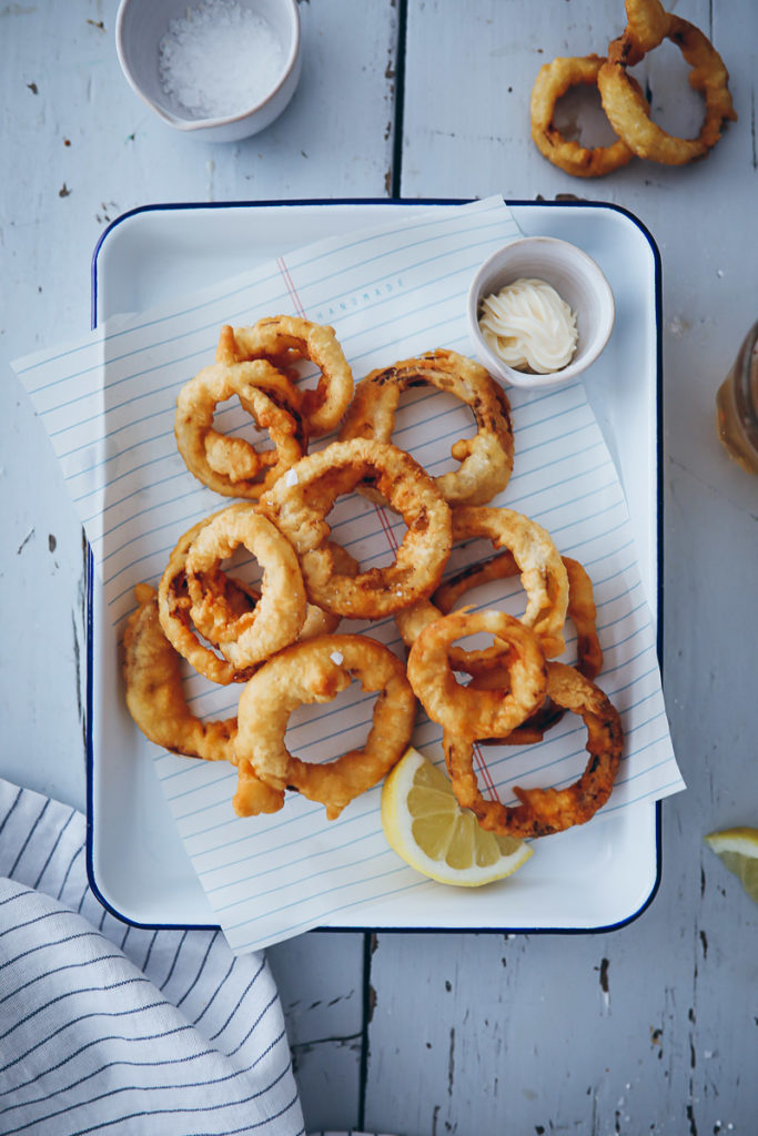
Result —
[[[439, 202], [449, 204], [450, 202]], [[92, 318], [142, 310], [349, 228], [413, 216], [433, 202], [253, 202], [151, 206], [103, 234], [93, 258]], [[624, 485], [642, 584], [659, 621], [660, 267], [656, 247], [625, 211], [586, 202], [509, 202], [525, 234], [574, 242], [601, 266], [616, 298], [606, 364], [588, 395]], [[213, 926], [152, 761], [124, 708], [114, 632], [89, 592], [88, 869], [103, 903], [141, 926]], [[659, 649], [660, 653], [660, 649]], [[333, 929], [597, 932], [635, 918], [655, 895], [660, 809], [649, 801], [544, 842], [530, 886], [491, 922], [447, 893], [434, 925], [397, 918], [391, 905], [351, 908]], [[470, 913], [469, 913], [470, 912]]]

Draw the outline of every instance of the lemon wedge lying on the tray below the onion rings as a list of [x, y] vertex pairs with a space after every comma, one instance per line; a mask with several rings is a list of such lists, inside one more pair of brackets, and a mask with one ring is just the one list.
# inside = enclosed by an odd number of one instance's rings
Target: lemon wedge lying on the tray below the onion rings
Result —
[[520, 868], [533, 849], [495, 836], [456, 801], [449, 778], [409, 746], [384, 782], [382, 826], [406, 863], [440, 884], [481, 887]]

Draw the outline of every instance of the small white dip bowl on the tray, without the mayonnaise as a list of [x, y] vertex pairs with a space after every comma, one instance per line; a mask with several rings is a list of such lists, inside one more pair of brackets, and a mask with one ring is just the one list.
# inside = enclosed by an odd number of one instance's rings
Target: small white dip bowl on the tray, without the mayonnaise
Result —
[[[573, 359], [550, 375], [514, 370], [489, 345], [478, 326], [481, 301], [519, 277], [543, 279], [576, 312], [578, 340]], [[468, 327], [480, 361], [511, 386], [558, 386], [581, 375], [594, 362], [614, 326], [614, 293], [598, 265], [586, 252], [551, 236], [525, 236], [493, 252], [472, 281], [468, 291]]]

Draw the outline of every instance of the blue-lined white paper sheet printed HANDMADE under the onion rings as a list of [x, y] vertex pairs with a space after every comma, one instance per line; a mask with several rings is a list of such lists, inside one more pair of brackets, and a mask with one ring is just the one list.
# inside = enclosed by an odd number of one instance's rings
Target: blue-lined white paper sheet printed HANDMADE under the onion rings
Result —
[[[411, 220], [319, 241], [205, 293], [109, 321], [81, 343], [16, 364], [92, 544], [113, 635], [120, 635], [134, 607], [134, 585], [157, 584], [182, 533], [228, 503], [188, 473], [173, 431], [176, 394], [213, 361], [224, 323], [250, 324], [284, 312], [332, 324], [357, 379], [431, 348], [469, 354], [465, 298], [470, 277], [486, 256], [518, 235], [501, 198], [419, 209]], [[307, 371], [303, 381], [313, 382]], [[605, 652], [598, 682], [619, 709], [626, 735], [617, 784], [603, 810], [613, 815], [683, 787], [626, 502], [581, 383], [508, 394], [515, 469], [493, 503], [540, 521], [561, 554], [580, 560], [593, 580]], [[217, 420], [230, 433], [245, 429], [240, 408], [222, 408]], [[450, 446], [470, 433], [466, 408], [419, 387], [401, 404], [393, 441], [436, 475], [455, 467]], [[340, 499], [330, 524], [335, 540], [364, 567], [389, 562], [393, 542], [403, 535], [400, 518], [359, 495]], [[447, 574], [490, 552], [483, 542], [456, 548]], [[514, 613], [524, 607], [517, 580], [472, 593], [472, 602], [497, 602]], [[403, 653], [391, 619], [345, 621], [340, 630], [369, 634]], [[569, 625], [569, 661], [573, 650]], [[215, 687], [188, 675], [186, 692], [201, 717], [235, 712], [238, 687]], [[353, 684], [334, 703], [303, 708], [290, 721], [289, 747], [305, 760], [325, 760], [360, 745], [372, 704]], [[419, 711], [415, 744], [438, 761], [440, 737], [439, 727]], [[581, 720], [567, 715], [538, 747], [488, 747], [483, 785], [506, 803], [513, 801], [514, 784], [567, 785], [584, 767], [585, 741]], [[135, 738], [135, 749], [139, 744]], [[151, 749], [192, 864], [236, 951], [328, 924], [366, 902], [410, 893], [423, 904], [425, 889], [434, 886], [388, 849], [378, 788], [333, 822], [320, 805], [295, 794], [280, 813], [240, 819], [231, 809], [234, 768]]]

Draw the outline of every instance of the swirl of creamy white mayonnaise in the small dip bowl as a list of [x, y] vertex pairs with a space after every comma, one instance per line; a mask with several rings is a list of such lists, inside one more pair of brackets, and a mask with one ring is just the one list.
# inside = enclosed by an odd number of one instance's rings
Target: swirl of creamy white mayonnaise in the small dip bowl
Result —
[[576, 350], [576, 316], [545, 281], [517, 279], [482, 300], [480, 328], [514, 370], [549, 375]]

